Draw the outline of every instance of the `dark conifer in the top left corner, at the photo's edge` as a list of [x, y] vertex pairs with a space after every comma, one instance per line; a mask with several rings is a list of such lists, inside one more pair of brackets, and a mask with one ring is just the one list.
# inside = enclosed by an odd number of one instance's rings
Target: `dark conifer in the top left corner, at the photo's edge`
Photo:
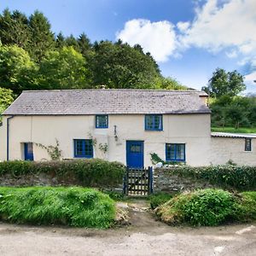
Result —
[[26, 49], [30, 38], [26, 15], [18, 10], [13, 13], [9, 9], [3, 10], [3, 15], [0, 15], [0, 38], [2, 44], [16, 44]]

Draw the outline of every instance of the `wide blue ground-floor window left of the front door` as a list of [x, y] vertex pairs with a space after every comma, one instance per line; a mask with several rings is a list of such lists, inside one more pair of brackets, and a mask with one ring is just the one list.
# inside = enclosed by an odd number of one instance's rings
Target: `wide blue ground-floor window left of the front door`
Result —
[[93, 158], [92, 140], [73, 140], [74, 157]]

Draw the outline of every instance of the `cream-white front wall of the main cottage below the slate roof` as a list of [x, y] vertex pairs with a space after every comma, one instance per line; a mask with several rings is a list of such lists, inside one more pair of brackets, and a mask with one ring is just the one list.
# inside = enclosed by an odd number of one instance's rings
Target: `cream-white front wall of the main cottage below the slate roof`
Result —
[[[0, 159], [6, 160], [6, 116], [0, 129]], [[145, 131], [144, 115], [109, 115], [108, 129], [95, 128], [95, 115], [85, 116], [15, 116], [9, 119], [9, 160], [22, 160], [23, 143], [32, 142], [34, 160], [49, 159], [46, 150], [36, 146], [60, 143], [62, 157], [73, 158], [73, 139], [96, 138], [95, 158], [117, 160], [126, 164], [126, 141], [144, 142], [144, 166], [151, 166], [150, 153], [166, 159], [166, 143], [185, 143], [186, 162], [190, 166], [210, 164], [211, 134], [210, 114], [165, 114], [163, 131]], [[117, 137], [114, 138], [114, 125]], [[98, 148], [99, 143], [108, 144], [107, 154]], [[218, 147], [216, 145], [216, 147]], [[216, 149], [217, 150], [217, 149]]]

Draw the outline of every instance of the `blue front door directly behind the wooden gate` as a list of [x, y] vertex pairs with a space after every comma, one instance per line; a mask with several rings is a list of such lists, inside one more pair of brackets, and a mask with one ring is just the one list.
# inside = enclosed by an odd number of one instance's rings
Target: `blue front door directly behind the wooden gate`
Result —
[[141, 141], [126, 141], [126, 163], [129, 168], [144, 167], [143, 144]]

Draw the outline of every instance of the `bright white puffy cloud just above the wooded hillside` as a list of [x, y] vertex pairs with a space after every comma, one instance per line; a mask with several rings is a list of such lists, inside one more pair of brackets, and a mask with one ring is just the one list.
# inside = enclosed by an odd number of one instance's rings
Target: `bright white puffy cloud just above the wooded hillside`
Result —
[[117, 32], [116, 38], [128, 44], [140, 44], [145, 52], [150, 52], [159, 62], [168, 61], [177, 47], [177, 38], [171, 22], [163, 20], [129, 20], [122, 31]]

